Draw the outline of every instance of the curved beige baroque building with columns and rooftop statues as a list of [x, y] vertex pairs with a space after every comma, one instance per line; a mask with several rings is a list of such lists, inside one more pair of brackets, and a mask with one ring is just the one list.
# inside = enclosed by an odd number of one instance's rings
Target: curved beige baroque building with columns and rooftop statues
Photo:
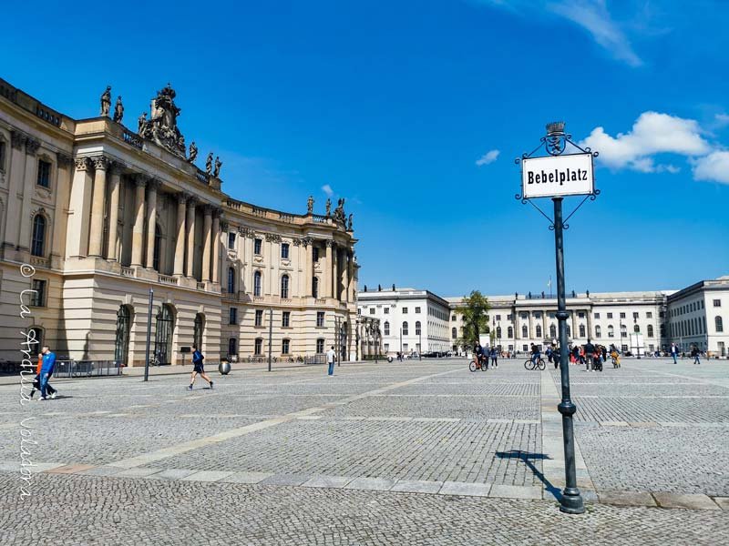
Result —
[[[71, 359], [179, 364], [358, 351], [352, 217], [257, 207], [196, 167], [167, 86], [136, 131], [73, 119], [0, 79], [0, 359], [29, 332]], [[334, 329], [338, 329], [334, 331]], [[34, 348], [31, 348], [34, 349]], [[34, 349], [35, 350], [35, 349]], [[188, 362], [190, 361], [188, 356]]]

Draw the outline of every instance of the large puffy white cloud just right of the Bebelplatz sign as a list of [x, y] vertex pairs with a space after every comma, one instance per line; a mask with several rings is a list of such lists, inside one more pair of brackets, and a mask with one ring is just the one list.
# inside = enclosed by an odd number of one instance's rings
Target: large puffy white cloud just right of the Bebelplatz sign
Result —
[[580, 142], [600, 152], [599, 161], [610, 168], [631, 168], [653, 172], [678, 172], [673, 165], [655, 165], [656, 154], [678, 154], [686, 157], [704, 156], [711, 147], [703, 139], [702, 129], [693, 119], [669, 116], [658, 112], [643, 112], [628, 133], [610, 136], [596, 127]]

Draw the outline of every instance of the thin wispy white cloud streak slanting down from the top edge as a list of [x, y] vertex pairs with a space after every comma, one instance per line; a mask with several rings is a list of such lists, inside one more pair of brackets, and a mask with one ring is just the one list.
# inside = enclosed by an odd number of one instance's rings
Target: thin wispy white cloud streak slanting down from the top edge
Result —
[[612, 20], [604, 0], [563, 0], [548, 4], [547, 8], [557, 15], [580, 25], [587, 30], [599, 45], [607, 49], [615, 58], [630, 66], [641, 66], [642, 60], [632, 50], [627, 36]]

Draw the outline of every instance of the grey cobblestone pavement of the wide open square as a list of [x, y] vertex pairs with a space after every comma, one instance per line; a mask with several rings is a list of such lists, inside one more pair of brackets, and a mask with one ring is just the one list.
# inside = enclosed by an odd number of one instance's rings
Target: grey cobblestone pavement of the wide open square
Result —
[[[323, 367], [236, 371], [191, 392], [182, 376], [59, 381], [62, 398], [25, 406], [17, 386], [0, 386], [0, 543], [729, 536], [727, 363], [570, 367], [578, 479], [598, 501], [573, 517], [553, 500], [563, 485], [558, 372], [499, 364], [356, 364], [333, 378]], [[36, 473], [20, 500], [23, 435]]]

